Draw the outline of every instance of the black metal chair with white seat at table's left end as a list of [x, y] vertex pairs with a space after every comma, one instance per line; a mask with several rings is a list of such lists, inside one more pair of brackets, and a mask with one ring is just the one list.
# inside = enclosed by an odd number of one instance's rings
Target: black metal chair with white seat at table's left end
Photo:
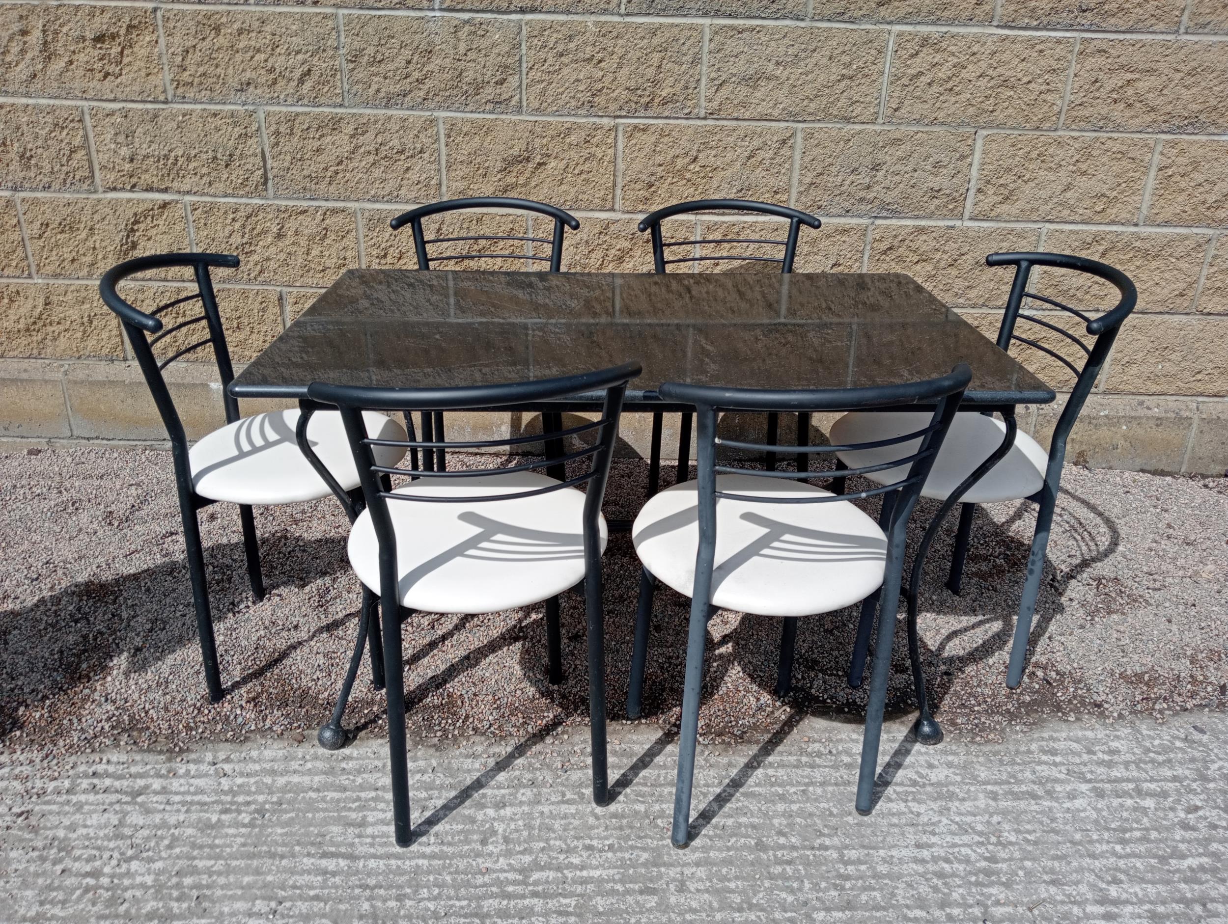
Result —
[[[309, 423], [306, 418], [300, 418], [300, 412], [293, 410], [239, 417], [238, 401], [228, 391], [235, 371], [209, 275], [210, 268], [233, 269], [238, 265], [238, 258], [230, 254], [139, 256], [109, 269], [98, 285], [102, 301], [123, 323], [133, 355], [171, 441], [171, 459], [179, 495], [188, 572], [192, 578], [192, 598], [196, 610], [196, 632], [200, 636], [205, 685], [212, 702], [222, 698], [223, 688], [214, 641], [214, 622], [196, 512], [219, 501], [238, 504], [248, 577], [252, 593], [260, 600], [264, 598], [264, 580], [260, 573], [252, 507], [327, 497], [334, 491], [334, 485], [329, 485], [328, 480], [333, 480], [335, 486], [344, 491], [352, 491], [359, 486], [359, 472], [346, 450], [341, 417], [335, 411], [316, 414], [311, 416]], [[190, 269], [196, 291], [173, 298], [151, 312], [140, 310], [117, 291], [117, 286], [130, 276], [172, 268]], [[200, 314], [178, 319], [176, 308], [198, 301]], [[172, 314], [158, 317], [166, 312]], [[167, 318], [174, 319], [171, 326], [166, 326]], [[185, 335], [198, 324], [204, 324], [208, 334], [201, 340], [174, 348], [181, 341], [192, 339]], [[168, 341], [173, 352], [162, 355], [166, 347], [155, 350], [161, 341], [179, 331], [184, 331], [184, 335]], [[211, 347], [217, 363], [226, 426], [209, 433], [189, 449], [183, 422], [179, 420], [162, 371], [176, 360], [201, 347]], [[372, 415], [368, 426], [389, 438], [405, 433], [395, 421], [382, 415]], [[314, 458], [305, 455], [300, 449], [301, 445], [308, 445]], [[400, 455], [395, 449], [384, 452], [386, 464], [395, 465], [399, 460]]]

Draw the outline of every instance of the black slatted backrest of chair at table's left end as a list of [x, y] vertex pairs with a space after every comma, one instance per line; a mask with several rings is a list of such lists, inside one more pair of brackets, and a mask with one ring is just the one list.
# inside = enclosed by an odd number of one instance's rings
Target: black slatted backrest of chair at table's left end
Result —
[[[144, 312], [136, 308], [117, 291], [117, 286], [129, 276], [139, 272], [149, 272], [150, 270], [165, 270], [178, 266], [192, 269], [193, 283], [196, 291], [181, 298], [173, 298], [152, 310]], [[183, 423], [179, 421], [179, 414], [174, 407], [174, 401], [171, 399], [171, 391], [166, 387], [166, 379], [162, 377], [162, 371], [176, 360], [201, 347], [211, 346], [214, 361], [217, 363], [217, 374], [221, 377], [226, 422], [232, 423], [238, 420], [238, 401], [231, 398], [228, 390], [230, 383], [235, 378], [235, 369], [231, 366], [230, 351], [226, 348], [226, 334], [222, 330], [221, 315], [217, 312], [217, 297], [214, 293], [214, 283], [209, 276], [211, 266], [235, 269], [238, 266], [238, 258], [232, 254], [155, 254], [152, 256], [138, 256], [112, 266], [98, 283], [98, 292], [102, 296], [102, 301], [111, 310], [119, 315], [119, 320], [123, 323], [128, 342], [133, 347], [133, 355], [136, 357], [141, 374], [145, 377], [145, 384], [149, 385], [150, 393], [154, 395], [154, 404], [157, 406], [162, 423], [166, 426], [167, 434], [177, 452], [187, 450], [187, 437], [183, 432]], [[177, 306], [188, 304], [198, 299], [200, 302], [200, 314], [193, 315], [187, 320], [177, 320], [171, 326], [166, 326], [162, 318], [158, 317]], [[205, 336], [196, 340], [192, 335], [198, 330], [195, 325], [201, 323], [204, 323], [205, 329], [200, 333], [205, 334]], [[154, 347], [163, 339], [181, 330], [188, 333], [187, 339], [193, 340], [193, 342], [176, 350], [169, 356], [158, 358]]]

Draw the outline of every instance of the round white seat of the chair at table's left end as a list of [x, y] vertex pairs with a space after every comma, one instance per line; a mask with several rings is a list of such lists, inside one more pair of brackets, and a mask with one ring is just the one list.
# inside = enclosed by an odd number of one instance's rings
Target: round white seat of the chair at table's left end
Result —
[[[405, 439], [405, 428], [376, 411], [363, 411], [367, 434], [378, 439]], [[295, 429], [298, 411], [270, 411], [243, 417], [215, 429], [188, 450], [192, 487], [201, 497], [243, 504], [314, 501], [329, 493], [298, 449]], [[346, 491], [359, 486], [345, 425], [339, 411], [316, 411], [307, 422], [312, 452]], [[379, 465], [395, 465], [402, 447], [376, 447]]]

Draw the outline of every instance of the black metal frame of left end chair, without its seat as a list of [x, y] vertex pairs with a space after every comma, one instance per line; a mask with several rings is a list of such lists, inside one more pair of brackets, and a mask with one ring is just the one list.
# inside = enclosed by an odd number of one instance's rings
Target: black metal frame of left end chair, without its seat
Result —
[[[167, 438], [171, 441], [171, 460], [174, 469], [176, 491], [179, 498], [179, 514], [183, 519], [188, 573], [192, 582], [193, 604], [196, 611], [196, 633], [200, 639], [200, 656], [205, 671], [205, 686], [209, 691], [209, 698], [212, 702], [222, 698], [223, 690], [221, 671], [217, 664], [217, 647], [214, 641], [214, 620], [209, 605], [209, 584], [205, 577], [204, 550], [200, 545], [200, 526], [196, 522], [196, 510], [209, 506], [212, 501], [200, 497], [193, 491], [192, 469], [188, 461], [188, 438], [184, 433], [179, 412], [174, 406], [174, 400], [171, 398], [171, 390], [162, 377], [162, 371], [174, 360], [201, 347], [211, 346], [222, 385], [222, 406], [226, 414], [226, 422], [232, 423], [238, 420], [238, 401], [228, 390], [231, 382], [235, 379], [235, 369], [231, 366], [230, 351], [226, 347], [226, 335], [222, 329], [221, 315], [217, 312], [217, 298], [209, 275], [211, 268], [235, 269], [238, 264], [238, 258], [231, 254], [156, 254], [125, 260], [111, 268], [98, 283], [98, 293], [102, 301], [111, 310], [119, 315], [124, 333], [131, 345], [133, 355], [141, 369], [141, 374], [145, 377], [146, 385], [149, 385], [154, 405], [162, 418], [162, 425], [166, 427]], [[117, 291], [118, 285], [130, 276], [172, 268], [187, 268], [193, 271], [193, 280], [196, 287], [193, 295], [176, 298], [158, 306], [152, 312], [142, 312], [126, 302]], [[204, 309], [201, 318], [209, 328], [209, 336], [193, 344], [190, 347], [177, 351], [171, 358], [160, 362], [154, 355], [154, 344], [166, 334], [187, 326], [187, 323], [176, 324], [167, 329], [157, 315], [171, 307], [198, 298]], [[190, 323], [199, 320], [200, 318], [196, 318]], [[252, 518], [251, 507], [241, 506], [239, 519], [243, 530], [243, 547], [247, 553], [248, 577], [251, 578], [252, 591], [259, 599], [264, 594], [264, 583], [260, 574], [255, 523]]]

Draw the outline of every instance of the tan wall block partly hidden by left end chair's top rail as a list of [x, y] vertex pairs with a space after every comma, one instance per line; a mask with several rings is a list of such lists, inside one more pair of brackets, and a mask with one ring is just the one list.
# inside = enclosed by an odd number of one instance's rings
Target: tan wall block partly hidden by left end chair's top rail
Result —
[[96, 279], [131, 256], [189, 249], [178, 200], [38, 196], [22, 209], [39, 276]]

